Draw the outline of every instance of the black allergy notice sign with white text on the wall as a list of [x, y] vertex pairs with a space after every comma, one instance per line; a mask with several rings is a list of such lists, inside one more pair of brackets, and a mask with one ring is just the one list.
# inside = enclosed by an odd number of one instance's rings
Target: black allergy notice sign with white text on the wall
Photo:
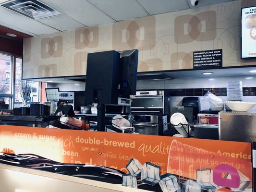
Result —
[[194, 69], [216, 69], [222, 67], [222, 49], [193, 52]]

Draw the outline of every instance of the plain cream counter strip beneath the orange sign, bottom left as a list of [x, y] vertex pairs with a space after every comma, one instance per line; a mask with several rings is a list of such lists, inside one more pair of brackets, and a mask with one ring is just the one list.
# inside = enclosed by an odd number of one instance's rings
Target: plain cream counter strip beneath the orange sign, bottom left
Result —
[[0, 163], [2, 192], [145, 192], [145, 190], [87, 180]]

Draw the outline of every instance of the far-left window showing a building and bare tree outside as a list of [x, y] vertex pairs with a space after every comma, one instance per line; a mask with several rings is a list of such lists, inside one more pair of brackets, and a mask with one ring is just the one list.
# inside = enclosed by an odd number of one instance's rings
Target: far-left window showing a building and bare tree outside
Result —
[[[24, 99], [22, 93], [27, 88], [30, 94]], [[0, 100], [9, 109], [14, 102], [39, 102], [39, 90], [39, 82], [22, 80], [22, 58], [0, 53]]]

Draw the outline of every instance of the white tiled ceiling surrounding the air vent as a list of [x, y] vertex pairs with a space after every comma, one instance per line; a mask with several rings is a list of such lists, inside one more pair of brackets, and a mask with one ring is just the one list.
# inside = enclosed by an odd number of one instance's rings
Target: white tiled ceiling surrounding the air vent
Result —
[[40, 0], [61, 15], [34, 20], [0, 6], [0, 25], [39, 36], [227, 1], [232, 0], [199, 0], [193, 7], [190, 0]]

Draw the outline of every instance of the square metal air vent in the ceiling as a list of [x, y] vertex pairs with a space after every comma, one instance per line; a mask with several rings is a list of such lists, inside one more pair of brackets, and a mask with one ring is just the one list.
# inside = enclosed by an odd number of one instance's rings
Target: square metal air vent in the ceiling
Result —
[[10, 0], [0, 5], [35, 20], [61, 14], [38, 0]]

